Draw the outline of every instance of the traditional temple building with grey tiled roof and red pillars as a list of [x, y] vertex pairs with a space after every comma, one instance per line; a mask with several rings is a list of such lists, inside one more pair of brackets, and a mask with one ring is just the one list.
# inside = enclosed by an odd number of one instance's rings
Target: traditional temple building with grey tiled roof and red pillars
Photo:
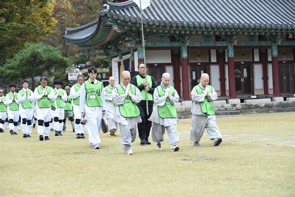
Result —
[[221, 99], [295, 97], [294, 0], [150, 0], [142, 13], [133, 0], [118, 1], [103, 0], [97, 20], [63, 36], [108, 56], [117, 84], [145, 55], [148, 74], [159, 84], [170, 73], [182, 100], [202, 73]]

